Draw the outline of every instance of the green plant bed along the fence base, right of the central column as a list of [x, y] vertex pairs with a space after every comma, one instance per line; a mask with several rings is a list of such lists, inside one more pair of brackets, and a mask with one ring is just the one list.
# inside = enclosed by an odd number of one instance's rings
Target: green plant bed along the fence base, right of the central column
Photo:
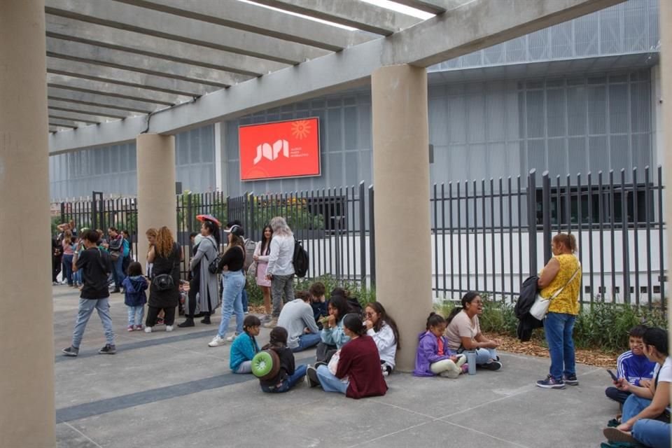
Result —
[[[514, 314], [515, 304], [489, 300], [482, 294], [483, 314], [479, 318], [481, 330], [500, 335], [516, 336], [518, 319]], [[437, 312], [448, 316], [459, 300], [444, 300]], [[605, 352], [621, 352], [628, 349], [628, 330], [635, 325], [667, 328], [668, 321], [660, 307], [637, 306], [594, 302], [584, 305], [574, 325], [575, 346], [582, 349], [601, 349]], [[535, 330], [535, 336], [543, 330]]]

